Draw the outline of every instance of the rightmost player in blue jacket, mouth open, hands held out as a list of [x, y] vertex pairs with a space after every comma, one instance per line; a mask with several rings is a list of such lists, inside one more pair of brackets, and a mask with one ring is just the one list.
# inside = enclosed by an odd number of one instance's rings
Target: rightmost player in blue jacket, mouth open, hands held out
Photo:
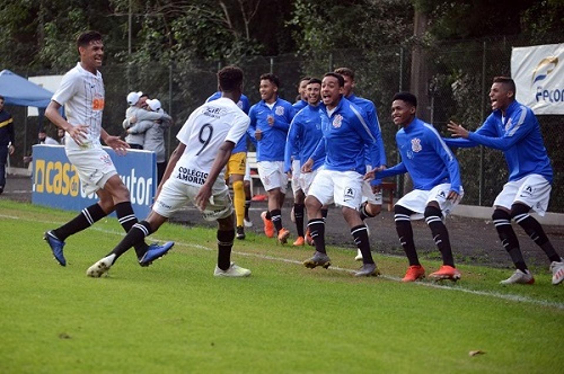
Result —
[[471, 147], [479, 144], [504, 153], [509, 181], [493, 202], [492, 220], [501, 244], [515, 264], [515, 272], [502, 284], [535, 282], [519, 249], [511, 227], [515, 220], [550, 261], [552, 284], [564, 281], [564, 259], [552, 246], [547, 234], [531, 210], [544, 216], [550, 199], [553, 172], [544, 148], [540, 124], [531, 108], [515, 100], [515, 82], [509, 77], [493, 78], [490, 89], [492, 113], [476, 131], [468, 131], [455, 122], [448, 130], [461, 139], [446, 139], [450, 146]]

